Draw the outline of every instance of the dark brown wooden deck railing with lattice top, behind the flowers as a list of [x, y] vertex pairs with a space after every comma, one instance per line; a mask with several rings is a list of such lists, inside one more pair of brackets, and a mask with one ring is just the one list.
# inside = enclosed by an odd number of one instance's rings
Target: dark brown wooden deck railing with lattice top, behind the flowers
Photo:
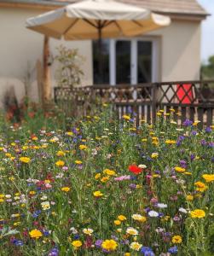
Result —
[[175, 110], [174, 118], [200, 120], [200, 126], [214, 122], [214, 81], [176, 81], [153, 84], [91, 85], [78, 88], [55, 88], [55, 102], [64, 111], [79, 113], [97, 102], [113, 103], [119, 118], [130, 108], [141, 119], [154, 122], [159, 109]]

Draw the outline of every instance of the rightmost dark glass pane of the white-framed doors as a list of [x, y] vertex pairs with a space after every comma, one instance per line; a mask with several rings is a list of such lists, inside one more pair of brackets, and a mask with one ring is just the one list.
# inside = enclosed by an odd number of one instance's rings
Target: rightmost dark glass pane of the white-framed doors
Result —
[[152, 81], [152, 42], [137, 42], [137, 81], [150, 83]]

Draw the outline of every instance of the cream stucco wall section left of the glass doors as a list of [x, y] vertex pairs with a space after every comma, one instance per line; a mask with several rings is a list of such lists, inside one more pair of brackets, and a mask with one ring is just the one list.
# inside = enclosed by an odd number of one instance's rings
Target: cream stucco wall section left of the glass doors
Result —
[[[26, 29], [28, 17], [41, 12], [32, 9], [0, 9], [0, 107], [3, 105], [5, 91], [14, 87], [20, 101], [25, 95], [24, 81], [30, 71], [30, 96], [38, 98], [36, 62], [42, 61], [43, 35]], [[83, 84], [92, 84], [91, 41], [64, 42], [50, 38], [50, 52], [56, 55], [56, 47], [64, 44], [69, 48], [78, 48], [84, 56]], [[30, 67], [30, 68], [29, 68]], [[51, 67], [52, 85], [55, 86], [55, 63]]]

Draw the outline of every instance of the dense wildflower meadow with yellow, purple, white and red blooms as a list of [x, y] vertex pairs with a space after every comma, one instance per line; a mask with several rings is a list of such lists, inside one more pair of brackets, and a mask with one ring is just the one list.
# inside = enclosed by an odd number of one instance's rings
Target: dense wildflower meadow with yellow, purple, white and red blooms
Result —
[[214, 125], [1, 120], [0, 255], [214, 255]]

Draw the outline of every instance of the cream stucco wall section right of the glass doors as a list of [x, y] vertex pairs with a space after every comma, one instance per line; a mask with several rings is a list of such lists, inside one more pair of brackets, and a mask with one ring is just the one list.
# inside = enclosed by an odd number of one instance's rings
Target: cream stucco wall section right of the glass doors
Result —
[[200, 21], [172, 20], [160, 38], [161, 81], [200, 79]]

